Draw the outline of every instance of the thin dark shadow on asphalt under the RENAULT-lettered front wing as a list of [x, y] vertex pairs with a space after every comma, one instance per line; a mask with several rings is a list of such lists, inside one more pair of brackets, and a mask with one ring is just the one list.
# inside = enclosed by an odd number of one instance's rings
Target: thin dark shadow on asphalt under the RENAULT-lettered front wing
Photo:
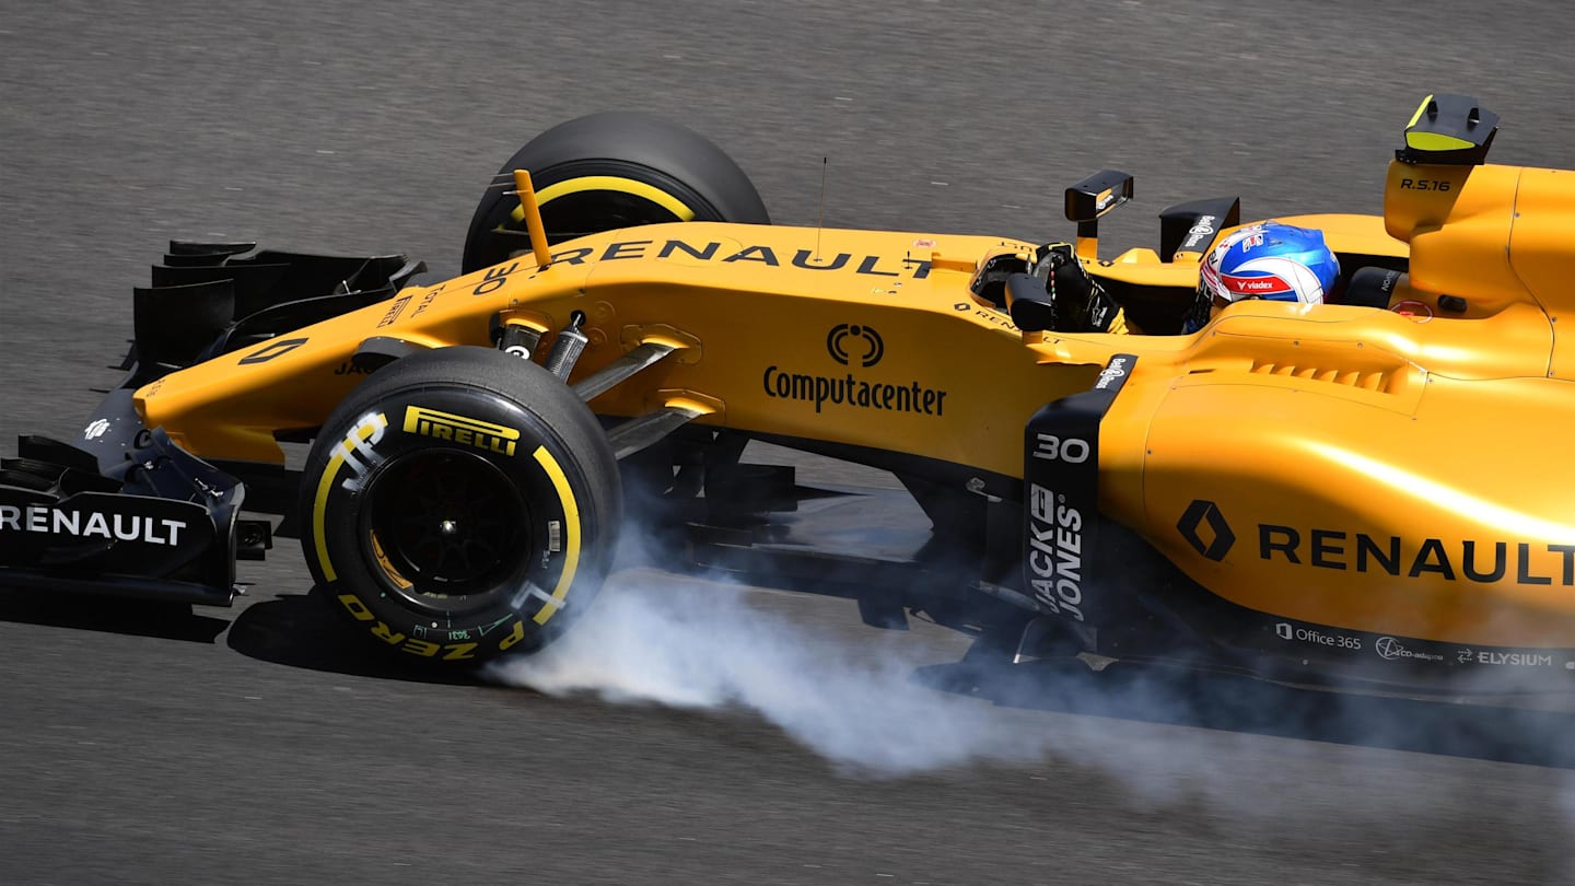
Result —
[[189, 604], [35, 590], [0, 590], [0, 621], [187, 643], [213, 643], [230, 624], [224, 618], [197, 615]]

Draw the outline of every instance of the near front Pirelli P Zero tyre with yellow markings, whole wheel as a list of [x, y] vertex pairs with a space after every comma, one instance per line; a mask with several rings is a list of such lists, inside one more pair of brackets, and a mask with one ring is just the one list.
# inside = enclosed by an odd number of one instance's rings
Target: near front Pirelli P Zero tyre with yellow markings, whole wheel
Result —
[[307, 564], [373, 643], [477, 665], [540, 650], [598, 591], [617, 462], [553, 374], [488, 348], [398, 359], [346, 397], [301, 487]]

